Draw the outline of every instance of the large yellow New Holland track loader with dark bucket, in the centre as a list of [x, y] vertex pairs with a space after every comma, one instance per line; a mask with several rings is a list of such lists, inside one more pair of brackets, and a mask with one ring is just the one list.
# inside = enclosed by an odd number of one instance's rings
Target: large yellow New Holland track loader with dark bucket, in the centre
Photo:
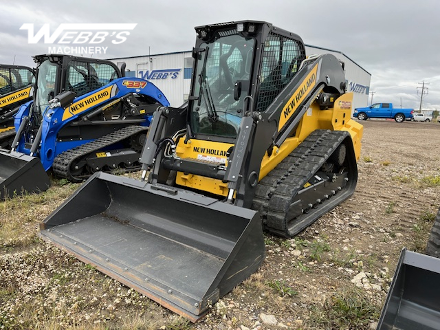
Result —
[[[343, 63], [261, 21], [196, 28], [188, 105], [153, 114], [140, 180], [95, 173], [44, 239], [195, 321], [353, 194], [362, 125]], [[148, 176], [147, 176], [148, 175]]]

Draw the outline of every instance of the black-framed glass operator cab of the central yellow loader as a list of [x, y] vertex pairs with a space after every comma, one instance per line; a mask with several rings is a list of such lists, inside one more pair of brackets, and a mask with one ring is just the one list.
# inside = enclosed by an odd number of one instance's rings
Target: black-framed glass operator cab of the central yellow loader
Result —
[[206, 25], [196, 31], [188, 133], [230, 142], [243, 115], [265, 111], [292, 80], [305, 59], [305, 47], [296, 34], [259, 21]]

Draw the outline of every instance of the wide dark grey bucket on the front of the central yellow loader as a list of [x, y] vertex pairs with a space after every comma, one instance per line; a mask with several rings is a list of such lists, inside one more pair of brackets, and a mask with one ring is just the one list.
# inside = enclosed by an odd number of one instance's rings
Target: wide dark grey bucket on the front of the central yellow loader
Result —
[[80, 186], [41, 235], [192, 322], [265, 254], [258, 212], [107, 173]]

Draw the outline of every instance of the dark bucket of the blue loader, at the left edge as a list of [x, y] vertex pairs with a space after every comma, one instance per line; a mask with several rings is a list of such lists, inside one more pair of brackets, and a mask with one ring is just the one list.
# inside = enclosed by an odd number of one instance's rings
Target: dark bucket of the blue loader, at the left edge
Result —
[[14, 151], [0, 151], [0, 200], [50, 187], [40, 159]]

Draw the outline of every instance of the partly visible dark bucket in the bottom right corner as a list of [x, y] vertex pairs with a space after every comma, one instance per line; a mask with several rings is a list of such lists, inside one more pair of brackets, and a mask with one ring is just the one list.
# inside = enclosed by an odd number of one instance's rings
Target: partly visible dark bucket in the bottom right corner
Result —
[[402, 250], [377, 330], [440, 329], [439, 283], [440, 259]]

